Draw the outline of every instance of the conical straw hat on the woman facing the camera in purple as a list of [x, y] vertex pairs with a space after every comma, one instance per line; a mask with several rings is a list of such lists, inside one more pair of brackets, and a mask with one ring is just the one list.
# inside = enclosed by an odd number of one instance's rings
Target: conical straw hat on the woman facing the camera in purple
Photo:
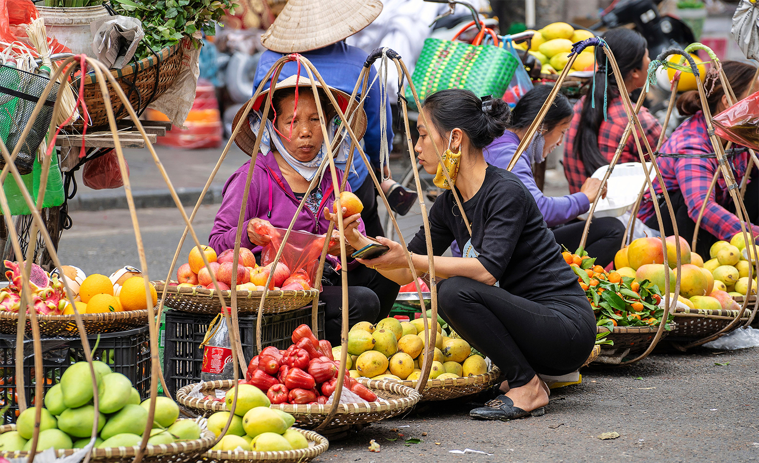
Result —
[[[276, 90], [282, 90], [283, 88], [288, 88], [288, 87], [295, 87], [295, 81], [297, 77], [298, 76], [291, 75], [290, 77], [286, 78], [284, 81], [277, 83], [276, 86], [274, 87], [275, 93], [276, 93]], [[322, 88], [322, 84], [320, 84], [320, 82], [317, 81], [316, 84], [318, 88]], [[301, 75], [300, 80], [298, 80], [298, 87], [307, 87], [308, 90], [311, 90], [310, 79]], [[343, 113], [345, 113], [345, 110], [348, 109], [348, 102], [351, 100], [351, 96], [346, 94], [345, 92], [337, 90], [336, 88], [329, 87], [329, 90], [332, 91], [332, 96], [335, 97], [335, 100], [337, 100], [337, 103], [340, 106], [340, 109], [343, 111]], [[253, 107], [251, 108], [251, 110], [252, 111], [260, 110], [263, 104], [266, 103], [266, 98], [268, 97], [269, 97], [269, 90], [263, 91], [258, 96], [256, 101], [253, 103]], [[238, 121], [240, 119], [245, 118], [245, 116], [247, 116], [247, 114], [244, 114], [245, 108], [247, 107], [247, 103], [250, 103], [250, 100], [247, 100], [247, 102], [245, 102], [245, 104], [242, 105], [238, 113], [235, 114], [235, 119], [232, 120], [232, 128], [237, 127]], [[356, 137], [358, 139], [361, 139], [364, 136], [364, 132], [366, 132], [367, 130], [367, 113], [364, 112], [364, 109], [361, 109], [361, 113], [355, 113], [356, 106], [357, 106], [357, 102], [354, 101], [354, 103], [351, 104], [351, 108], [350, 108], [350, 112], [354, 113], [353, 120], [351, 121], [351, 128], [353, 129], [353, 133], [356, 135]], [[332, 105], [323, 109], [326, 111], [328, 115], [330, 113], [332, 115], [336, 113], [335, 109], [332, 109]], [[271, 112], [272, 112], [272, 109], [269, 109], [269, 113]], [[247, 122], [243, 123], [242, 127], [240, 128], [240, 132], [238, 132], [237, 137], [235, 137], [235, 143], [248, 156], [250, 157], [253, 156], [253, 148], [256, 146], [256, 135], [250, 129], [250, 124], [248, 124]]]

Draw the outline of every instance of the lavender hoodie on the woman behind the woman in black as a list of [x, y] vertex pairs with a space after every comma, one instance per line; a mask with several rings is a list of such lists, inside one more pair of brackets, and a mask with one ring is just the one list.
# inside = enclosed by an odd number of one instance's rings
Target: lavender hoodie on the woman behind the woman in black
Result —
[[[514, 156], [518, 146], [519, 137], [514, 132], [506, 130], [503, 132], [503, 135], [485, 147], [483, 154], [487, 163], [505, 169], [509, 166], [509, 162], [512, 160], [512, 156]], [[584, 193], [578, 192], [565, 196], [544, 196], [543, 192], [537, 188], [537, 183], [535, 183], [535, 178], [532, 175], [532, 162], [528, 159], [526, 152], [521, 154], [512, 172], [519, 177], [524, 186], [534, 196], [537, 208], [543, 214], [543, 220], [546, 220], [548, 227], [565, 224], [578, 215], [586, 213], [591, 208], [591, 203], [587, 201], [587, 196]]]

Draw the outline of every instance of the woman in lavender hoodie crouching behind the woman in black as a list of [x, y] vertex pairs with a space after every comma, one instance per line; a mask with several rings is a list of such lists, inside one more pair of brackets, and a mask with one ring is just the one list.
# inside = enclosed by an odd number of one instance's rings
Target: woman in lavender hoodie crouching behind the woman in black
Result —
[[[546, 103], [551, 87], [539, 85], [524, 94], [515, 108], [512, 110], [512, 119], [509, 128], [503, 135], [496, 138], [493, 143], [485, 147], [483, 154], [487, 163], [505, 169], [509, 166], [512, 156], [517, 151], [519, 142], [524, 138], [528, 127], [534, 121], [540, 108]], [[535, 138], [528, 148], [521, 154], [512, 172], [527, 186], [537, 202], [543, 219], [553, 231], [556, 243], [565, 246], [570, 252], [580, 246], [582, 231], [585, 226], [584, 220], [575, 220], [578, 215], [586, 213], [591, 203], [598, 197], [600, 180], [588, 178], [582, 185], [580, 192], [565, 196], [545, 196], [537, 188], [532, 174], [532, 163], [542, 163], [546, 156], [559, 146], [564, 138], [564, 133], [572, 121], [572, 104], [562, 94], [556, 95], [553, 105], [543, 118], [543, 123], [537, 130]], [[606, 193], [603, 193], [605, 196]], [[594, 218], [591, 229], [588, 230], [585, 250], [592, 257], [597, 258], [597, 263], [606, 267], [614, 260], [615, 253], [622, 244], [622, 235], [625, 227], [616, 217]]]

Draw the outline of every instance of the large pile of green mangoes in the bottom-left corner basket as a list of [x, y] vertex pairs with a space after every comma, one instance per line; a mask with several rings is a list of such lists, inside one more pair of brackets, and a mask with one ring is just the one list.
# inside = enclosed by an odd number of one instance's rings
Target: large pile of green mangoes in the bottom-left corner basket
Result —
[[[121, 373], [100, 361], [93, 361], [97, 379], [98, 433], [95, 447], [139, 446], [147, 423], [150, 399], [140, 403], [140, 393]], [[39, 422], [37, 451], [82, 449], [90, 442], [95, 407], [92, 376], [87, 362], [69, 366], [61, 382], [45, 395], [45, 408]], [[0, 434], [0, 452], [30, 450], [35, 409], [27, 408], [16, 421], [16, 430]], [[200, 439], [200, 427], [192, 420], [177, 420], [179, 407], [168, 397], [156, 398], [153, 430], [148, 444], [168, 444], [178, 440]]]

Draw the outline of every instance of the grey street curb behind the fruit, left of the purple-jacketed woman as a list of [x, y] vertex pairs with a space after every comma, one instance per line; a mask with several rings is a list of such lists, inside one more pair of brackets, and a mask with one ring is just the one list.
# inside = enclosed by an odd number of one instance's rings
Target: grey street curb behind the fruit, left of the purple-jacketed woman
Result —
[[[194, 207], [200, 198], [202, 188], [180, 188], [177, 195], [184, 207]], [[174, 208], [175, 202], [168, 190], [140, 190], [132, 192], [135, 208]], [[221, 204], [222, 186], [211, 186], [203, 197], [203, 205]], [[128, 209], [127, 197], [123, 191], [101, 194], [77, 195], [68, 201], [68, 211], [105, 211], [107, 209]]]

